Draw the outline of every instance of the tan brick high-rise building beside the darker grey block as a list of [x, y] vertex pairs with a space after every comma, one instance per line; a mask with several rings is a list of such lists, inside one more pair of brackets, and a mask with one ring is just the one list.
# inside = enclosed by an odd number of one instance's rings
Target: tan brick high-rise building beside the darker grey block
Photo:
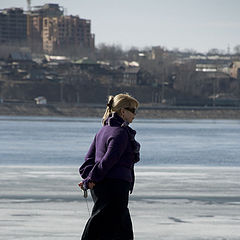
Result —
[[35, 7], [29, 14], [28, 36], [32, 46], [41, 39], [42, 49], [50, 54], [61, 49], [94, 48], [91, 21], [64, 16], [58, 4]]

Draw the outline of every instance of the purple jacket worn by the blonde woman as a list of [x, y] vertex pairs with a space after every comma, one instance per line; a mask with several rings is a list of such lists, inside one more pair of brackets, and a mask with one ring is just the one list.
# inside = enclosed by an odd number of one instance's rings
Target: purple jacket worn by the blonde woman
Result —
[[79, 168], [84, 185], [98, 183], [105, 178], [121, 179], [134, 184], [134, 163], [139, 161], [140, 144], [136, 131], [116, 113], [110, 116], [96, 134], [85, 162]]

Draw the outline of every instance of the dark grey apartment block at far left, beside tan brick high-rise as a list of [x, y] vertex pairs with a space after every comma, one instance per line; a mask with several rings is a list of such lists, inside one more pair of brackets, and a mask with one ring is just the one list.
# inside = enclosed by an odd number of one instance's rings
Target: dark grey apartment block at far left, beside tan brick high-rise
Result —
[[0, 43], [26, 43], [27, 15], [21, 8], [0, 10]]

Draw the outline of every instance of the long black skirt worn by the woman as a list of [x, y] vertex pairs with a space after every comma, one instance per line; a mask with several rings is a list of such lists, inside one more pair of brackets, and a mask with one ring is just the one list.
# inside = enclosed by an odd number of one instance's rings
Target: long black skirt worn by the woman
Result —
[[105, 179], [91, 190], [94, 206], [82, 240], [132, 240], [132, 221], [128, 210], [130, 183]]

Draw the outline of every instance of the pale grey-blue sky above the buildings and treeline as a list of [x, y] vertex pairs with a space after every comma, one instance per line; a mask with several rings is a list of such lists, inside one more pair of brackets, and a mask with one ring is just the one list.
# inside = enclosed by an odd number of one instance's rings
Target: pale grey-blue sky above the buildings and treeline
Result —
[[[58, 3], [65, 15], [90, 19], [95, 44], [123, 49], [162, 46], [225, 52], [240, 45], [240, 0], [32, 0]], [[27, 9], [26, 0], [0, 0], [0, 8]]]

